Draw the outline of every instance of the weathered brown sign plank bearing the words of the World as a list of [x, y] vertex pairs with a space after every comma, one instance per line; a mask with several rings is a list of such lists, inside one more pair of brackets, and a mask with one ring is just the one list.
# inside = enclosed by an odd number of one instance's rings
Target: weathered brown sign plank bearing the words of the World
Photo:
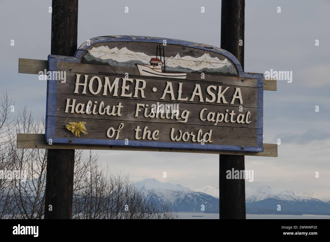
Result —
[[[52, 117], [51, 117], [52, 118]], [[81, 133], [80, 138], [75, 136], [71, 131], [67, 130], [65, 125], [69, 122], [86, 122], [85, 127], [87, 129], [88, 134], [84, 135]], [[149, 142], [148, 146], [156, 146], [159, 145], [158, 142], [167, 142], [174, 144], [196, 144], [200, 145], [201, 149], [206, 149], [205, 145], [210, 146], [210, 149], [217, 149], [217, 146], [246, 146], [246, 147], [260, 147], [262, 140], [260, 140], [260, 135], [262, 135], [262, 129], [256, 128], [241, 128], [241, 127], [224, 127], [224, 126], [202, 126], [196, 127], [196, 125], [191, 124], [169, 124], [169, 123], [153, 123], [153, 122], [141, 122], [141, 121], [116, 121], [116, 120], [93, 120], [93, 119], [76, 119], [76, 118], [63, 118], [56, 117], [55, 123], [48, 121], [48, 127], [50, 129], [55, 130], [55, 135], [48, 135], [47, 140], [49, 138], [60, 138], [64, 143], [67, 142], [65, 140], [72, 139], [73, 143], [79, 142], [80, 144], [84, 144], [86, 142], [91, 142], [93, 144], [101, 144], [108, 145], [111, 144], [111, 141], [114, 141], [116, 138], [115, 135], [111, 138], [107, 137], [107, 130], [110, 127], [114, 129], [118, 129], [120, 123], [124, 123], [123, 128], [120, 130], [118, 134], [118, 139], [116, 141], [125, 141], [128, 139], [129, 145], [133, 144], [141, 144], [144, 145], [143, 142]], [[139, 136], [141, 137], [143, 134], [144, 128], [147, 126], [148, 130], [151, 131], [151, 134], [154, 130], [159, 130], [159, 134], [156, 135], [156, 140], [148, 139], [147, 135], [145, 138], [141, 138], [137, 140], [135, 138], [137, 126], [140, 126], [142, 131], [139, 132]], [[170, 138], [171, 128], [174, 128], [174, 137], [179, 136], [179, 130], [183, 132], [193, 132], [194, 135], [197, 135], [199, 129], [202, 129], [202, 134], [206, 132], [210, 132], [212, 130], [211, 140], [213, 142], [205, 142], [205, 145], [202, 145], [200, 142], [193, 142], [192, 136], [185, 136], [188, 138], [187, 141], [183, 141], [182, 139], [179, 141], [172, 141]], [[150, 135], [151, 136], [151, 135]], [[196, 137], [197, 138], [197, 137]], [[203, 136], [202, 136], [203, 138]], [[208, 136], [207, 136], [208, 139]], [[53, 140], [54, 143], [56, 143]], [[133, 143], [132, 143], [133, 142]], [[124, 142], [121, 142], [124, 144]], [[165, 146], [164, 146], [165, 147]], [[190, 148], [190, 147], [187, 147]]]

